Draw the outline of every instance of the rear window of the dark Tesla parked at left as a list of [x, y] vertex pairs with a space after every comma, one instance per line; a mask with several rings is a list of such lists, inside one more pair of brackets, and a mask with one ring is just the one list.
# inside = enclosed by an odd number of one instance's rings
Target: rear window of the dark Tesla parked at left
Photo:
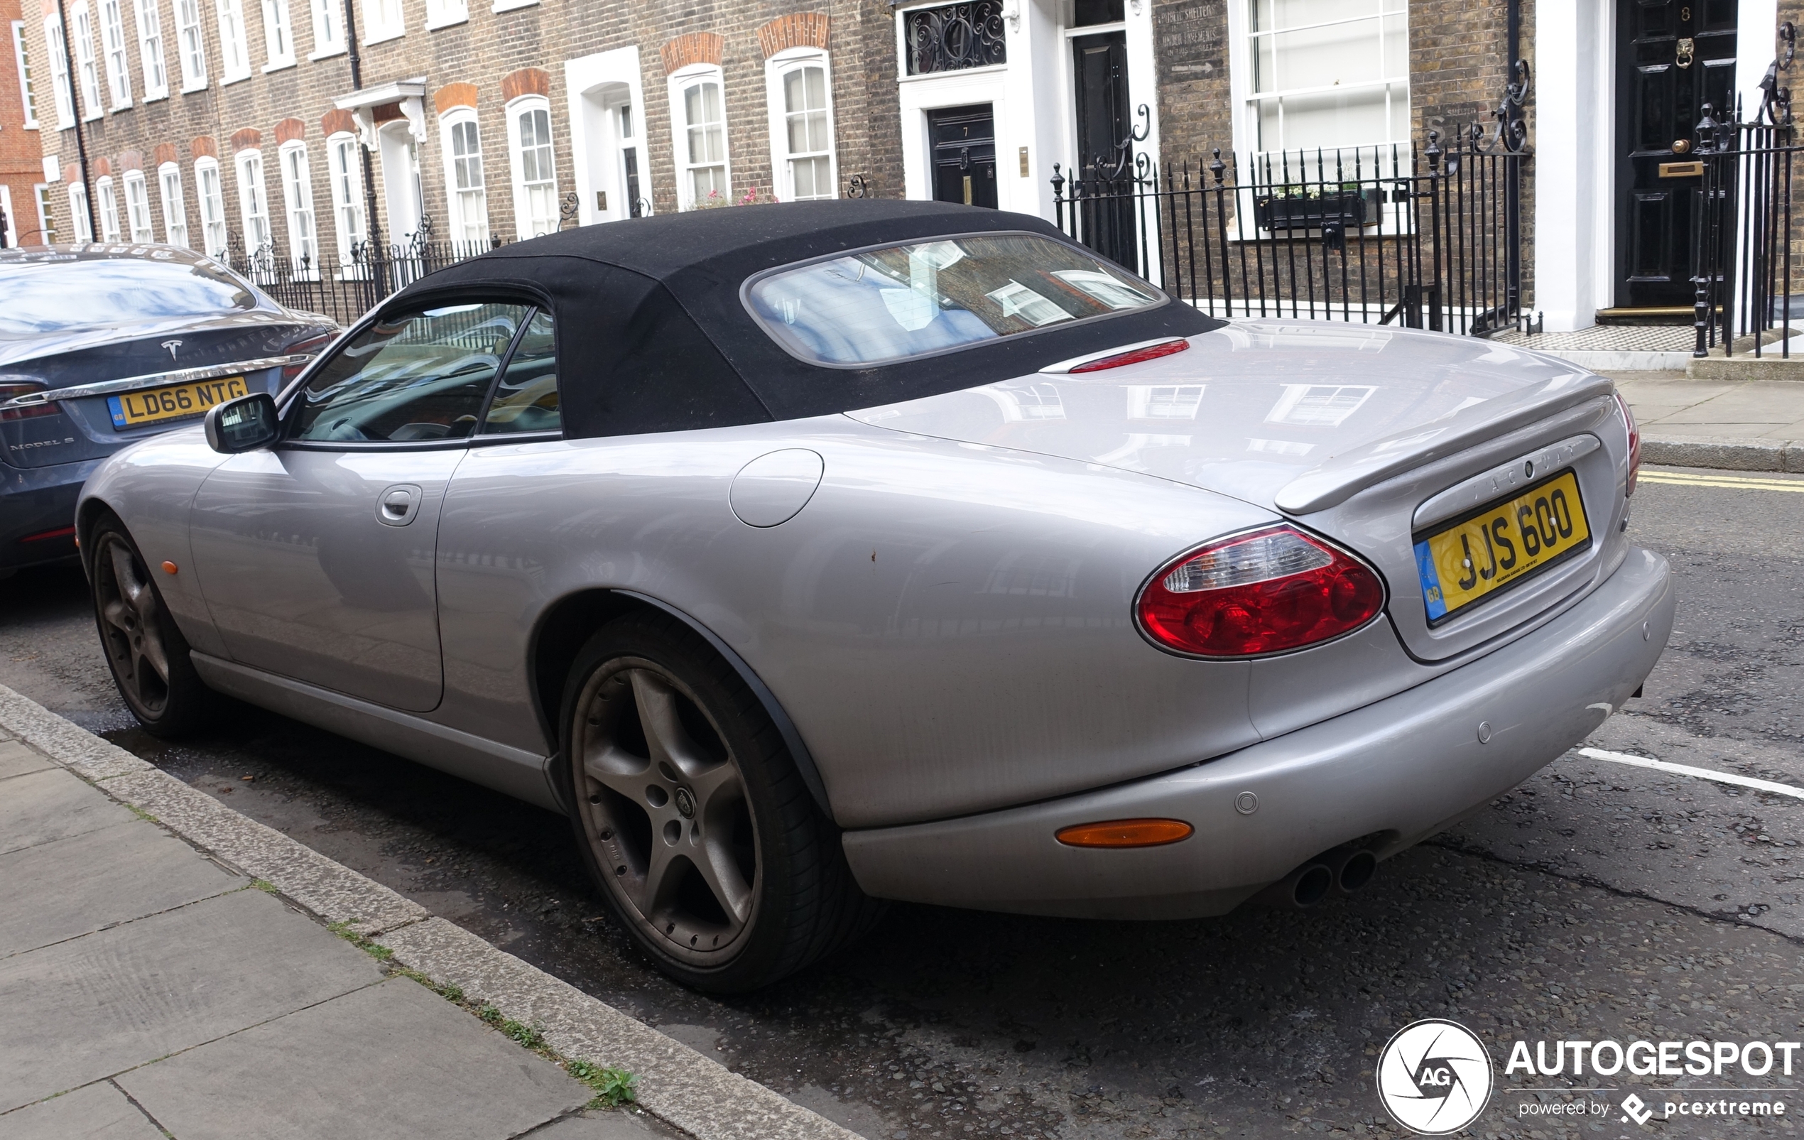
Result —
[[256, 294], [206, 262], [0, 262], [0, 336], [9, 337], [244, 308], [256, 308]]

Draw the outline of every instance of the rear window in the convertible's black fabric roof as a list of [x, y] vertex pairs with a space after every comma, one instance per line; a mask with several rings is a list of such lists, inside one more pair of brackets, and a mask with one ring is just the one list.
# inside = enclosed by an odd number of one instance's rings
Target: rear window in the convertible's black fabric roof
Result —
[[1099, 256], [1034, 234], [889, 245], [783, 269], [747, 301], [792, 355], [882, 364], [1165, 298]]

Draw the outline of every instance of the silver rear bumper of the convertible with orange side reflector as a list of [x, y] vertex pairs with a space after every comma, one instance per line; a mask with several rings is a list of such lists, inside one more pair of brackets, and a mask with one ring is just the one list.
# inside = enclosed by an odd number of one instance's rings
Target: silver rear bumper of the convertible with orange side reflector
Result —
[[[848, 832], [846, 859], [882, 898], [1084, 918], [1221, 915], [1353, 839], [1380, 835], [1380, 859], [1402, 851], [1557, 759], [1647, 678], [1672, 608], [1665, 559], [1631, 548], [1559, 621], [1387, 700], [1131, 785]], [[1247, 792], [1252, 814], [1236, 810]], [[1054, 839], [1070, 824], [1146, 815], [1196, 833], [1138, 850]]]

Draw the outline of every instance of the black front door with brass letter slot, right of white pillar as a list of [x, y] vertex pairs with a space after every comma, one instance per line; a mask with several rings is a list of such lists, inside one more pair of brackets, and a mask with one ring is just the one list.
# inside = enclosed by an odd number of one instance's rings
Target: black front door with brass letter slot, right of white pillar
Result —
[[1618, 0], [1616, 305], [1692, 305], [1703, 105], [1734, 115], [1735, 0]]

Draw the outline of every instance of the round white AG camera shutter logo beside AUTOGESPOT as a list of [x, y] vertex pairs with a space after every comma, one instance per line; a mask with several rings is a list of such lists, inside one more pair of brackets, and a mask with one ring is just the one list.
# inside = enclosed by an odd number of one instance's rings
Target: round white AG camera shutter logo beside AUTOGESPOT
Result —
[[1494, 1080], [1485, 1043], [1458, 1021], [1405, 1025], [1378, 1053], [1378, 1099], [1398, 1124], [1423, 1136], [1458, 1133], [1477, 1120]]

